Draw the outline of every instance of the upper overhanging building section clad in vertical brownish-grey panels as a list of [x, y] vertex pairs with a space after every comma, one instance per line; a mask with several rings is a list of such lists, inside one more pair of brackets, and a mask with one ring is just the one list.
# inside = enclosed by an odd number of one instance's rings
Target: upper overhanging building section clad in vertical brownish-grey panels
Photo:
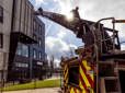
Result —
[[33, 37], [33, 11], [29, 0], [15, 0], [13, 32], [22, 32]]

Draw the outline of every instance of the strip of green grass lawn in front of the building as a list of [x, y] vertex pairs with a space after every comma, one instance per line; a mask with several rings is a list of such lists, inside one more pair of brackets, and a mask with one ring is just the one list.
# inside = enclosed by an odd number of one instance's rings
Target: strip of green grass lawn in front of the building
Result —
[[16, 84], [12, 86], [4, 88], [3, 91], [19, 91], [19, 90], [32, 90], [32, 89], [42, 89], [42, 88], [58, 88], [60, 86], [60, 80], [44, 80], [36, 81], [26, 84]]

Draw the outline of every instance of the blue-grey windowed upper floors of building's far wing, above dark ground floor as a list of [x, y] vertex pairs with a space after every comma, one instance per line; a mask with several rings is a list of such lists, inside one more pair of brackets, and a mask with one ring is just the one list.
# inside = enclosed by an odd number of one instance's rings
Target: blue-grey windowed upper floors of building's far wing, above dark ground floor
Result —
[[39, 21], [38, 18], [34, 18], [33, 20], [33, 38], [37, 40], [37, 44], [33, 44], [32, 47], [32, 57], [33, 59], [39, 60], [39, 61], [44, 61], [44, 54], [45, 54], [45, 39], [44, 38], [44, 23], [42, 23]]

